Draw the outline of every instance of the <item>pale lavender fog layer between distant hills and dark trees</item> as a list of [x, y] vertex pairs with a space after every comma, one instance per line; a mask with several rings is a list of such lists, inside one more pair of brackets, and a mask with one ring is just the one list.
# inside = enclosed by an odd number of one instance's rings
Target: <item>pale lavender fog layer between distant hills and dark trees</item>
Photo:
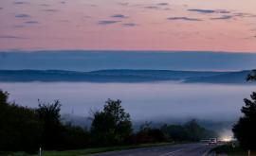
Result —
[[107, 98], [121, 99], [134, 121], [165, 122], [167, 119], [198, 118], [235, 120], [241, 114], [243, 98], [255, 86], [155, 83], [0, 83], [17, 104], [37, 107], [38, 99], [60, 99], [62, 113], [88, 116], [101, 110]]

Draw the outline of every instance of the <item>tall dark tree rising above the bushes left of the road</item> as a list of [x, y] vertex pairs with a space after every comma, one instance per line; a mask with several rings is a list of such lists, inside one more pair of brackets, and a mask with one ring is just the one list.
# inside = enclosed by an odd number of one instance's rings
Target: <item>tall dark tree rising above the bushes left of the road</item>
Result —
[[120, 100], [108, 99], [101, 112], [94, 113], [91, 133], [97, 144], [120, 144], [132, 133], [130, 114], [125, 113]]

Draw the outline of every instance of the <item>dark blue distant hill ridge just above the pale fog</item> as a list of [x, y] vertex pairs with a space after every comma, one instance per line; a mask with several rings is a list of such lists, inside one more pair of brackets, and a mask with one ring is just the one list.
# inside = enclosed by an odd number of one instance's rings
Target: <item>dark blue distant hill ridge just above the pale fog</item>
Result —
[[184, 83], [245, 84], [249, 71], [203, 72], [172, 70], [99, 70], [76, 72], [64, 70], [0, 70], [2, 82], [153, 82], [178, 80]]

